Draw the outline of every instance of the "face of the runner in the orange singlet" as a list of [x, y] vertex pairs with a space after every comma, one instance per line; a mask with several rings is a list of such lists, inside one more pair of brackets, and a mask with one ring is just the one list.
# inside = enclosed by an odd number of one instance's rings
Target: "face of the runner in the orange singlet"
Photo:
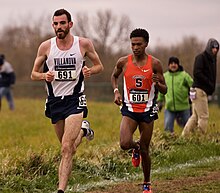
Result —
[[135, 56], [140, 56], [145, 54], [145, 48], [147, 47], [147, 42], [143, 37], [133, 37], [131, 38], [131, 49]]

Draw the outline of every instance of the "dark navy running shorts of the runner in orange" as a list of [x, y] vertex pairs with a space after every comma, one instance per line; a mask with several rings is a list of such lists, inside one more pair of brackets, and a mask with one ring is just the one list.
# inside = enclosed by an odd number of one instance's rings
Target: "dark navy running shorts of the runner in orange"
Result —
[[123, 105], [123, 107], [121, 108], [121, 114], [123, 116], [130, 117], [131, 119], [137, 121], [138, 123], [140, 122], [150, 123], [151, 121], [158, 119], [158, 111], [149, 110], [143, 113], [135, 113], [129, 111], [125, 105]]

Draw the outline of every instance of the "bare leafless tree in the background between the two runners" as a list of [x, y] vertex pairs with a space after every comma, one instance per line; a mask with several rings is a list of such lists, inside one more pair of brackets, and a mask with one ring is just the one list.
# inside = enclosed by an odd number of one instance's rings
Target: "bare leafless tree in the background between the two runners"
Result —
[[129, 51], [131, 21], [128, 16], [116, 16], [111, 10], [98, 11], [95, 16], [77, 13], [75, 34], [93, 40], [105, 71], [89, 81], [109, 82], [113, 66], [119, 56]]

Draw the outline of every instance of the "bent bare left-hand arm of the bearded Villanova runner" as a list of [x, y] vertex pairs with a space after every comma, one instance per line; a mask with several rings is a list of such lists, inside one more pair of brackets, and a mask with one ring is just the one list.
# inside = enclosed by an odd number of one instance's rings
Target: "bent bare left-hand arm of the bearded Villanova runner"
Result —
[[34, 61], [34, 66], [31, 72], [31, 79], [32, 80], [46, 80], [48, 82], [53, 81], [54, 79], [54, 73], [51, 71], [48, 71], [46, 73], [41, 72], [41, 68], [44, 64], [44, 62], [47, 59], [47, 55], [50, 49], [50, 40], [47, 40], [43, 42], [37, 52], [37, 57]]

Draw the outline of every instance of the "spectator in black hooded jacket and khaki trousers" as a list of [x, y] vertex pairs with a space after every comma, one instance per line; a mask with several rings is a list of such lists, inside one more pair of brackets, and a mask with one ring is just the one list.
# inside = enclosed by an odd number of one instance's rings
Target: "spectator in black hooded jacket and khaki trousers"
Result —
[[188, 136], [195, 129], [198, 129], [202, 134], [207, 132], [209, 118], [208, 95], [212, 95], [215, 91], [218, 51], [218, 41], [211, 38], [205, 51], [195, 58], [192, 86], [194, 90], [191, 89], [192, 116], [185, 125], [182, 136]]

